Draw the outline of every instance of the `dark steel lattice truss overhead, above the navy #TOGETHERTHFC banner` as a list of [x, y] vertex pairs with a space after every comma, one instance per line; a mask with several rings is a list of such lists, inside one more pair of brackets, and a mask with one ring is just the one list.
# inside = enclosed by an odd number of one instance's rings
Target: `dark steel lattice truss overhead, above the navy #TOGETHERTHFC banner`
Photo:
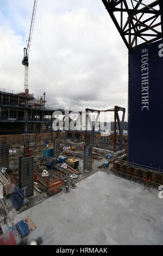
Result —
[[102, 2], [128, 49], [162, 38], [162, 0], [102, 0]]

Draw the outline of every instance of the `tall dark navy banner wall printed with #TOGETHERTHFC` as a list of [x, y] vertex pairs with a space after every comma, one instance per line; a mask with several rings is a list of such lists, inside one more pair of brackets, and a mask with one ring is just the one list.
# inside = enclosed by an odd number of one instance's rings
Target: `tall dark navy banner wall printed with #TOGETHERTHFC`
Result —
[[129, 51], [128, 161], [163, 170], [163, 40]]

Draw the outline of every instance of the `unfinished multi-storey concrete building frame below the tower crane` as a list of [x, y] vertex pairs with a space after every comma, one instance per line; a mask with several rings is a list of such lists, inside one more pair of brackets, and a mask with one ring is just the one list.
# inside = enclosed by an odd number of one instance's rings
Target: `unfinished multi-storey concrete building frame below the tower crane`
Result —
[[53, 109], [43, 106], [42, 97], [0, 90], [0, 133], [42, 132], [52, 130]]

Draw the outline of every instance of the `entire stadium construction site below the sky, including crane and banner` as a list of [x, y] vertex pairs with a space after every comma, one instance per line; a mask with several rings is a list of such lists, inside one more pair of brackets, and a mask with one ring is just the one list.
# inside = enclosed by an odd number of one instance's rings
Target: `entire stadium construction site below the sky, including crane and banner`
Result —
[[46, 92], [30, 93], [34, 0], [24, 91], [0, 88], [0, 245], [163, 243], [163, 137], [154, 121], [162, 110], [163, 3], [99, 1], [129, 52], [128, 121], [116, 101], [73, 112], [48, 107]]

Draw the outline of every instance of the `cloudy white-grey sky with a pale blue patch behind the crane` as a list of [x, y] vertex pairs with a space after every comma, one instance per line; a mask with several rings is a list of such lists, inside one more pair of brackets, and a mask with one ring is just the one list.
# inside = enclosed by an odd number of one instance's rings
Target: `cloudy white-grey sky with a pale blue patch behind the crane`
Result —
[[[0, 0], [1, 88], [24, 90], [33, 4]], [[48, 106], [127, 108], [128, 50], [101, 0], [38, 0], [29, 65], [29, 93]]]

